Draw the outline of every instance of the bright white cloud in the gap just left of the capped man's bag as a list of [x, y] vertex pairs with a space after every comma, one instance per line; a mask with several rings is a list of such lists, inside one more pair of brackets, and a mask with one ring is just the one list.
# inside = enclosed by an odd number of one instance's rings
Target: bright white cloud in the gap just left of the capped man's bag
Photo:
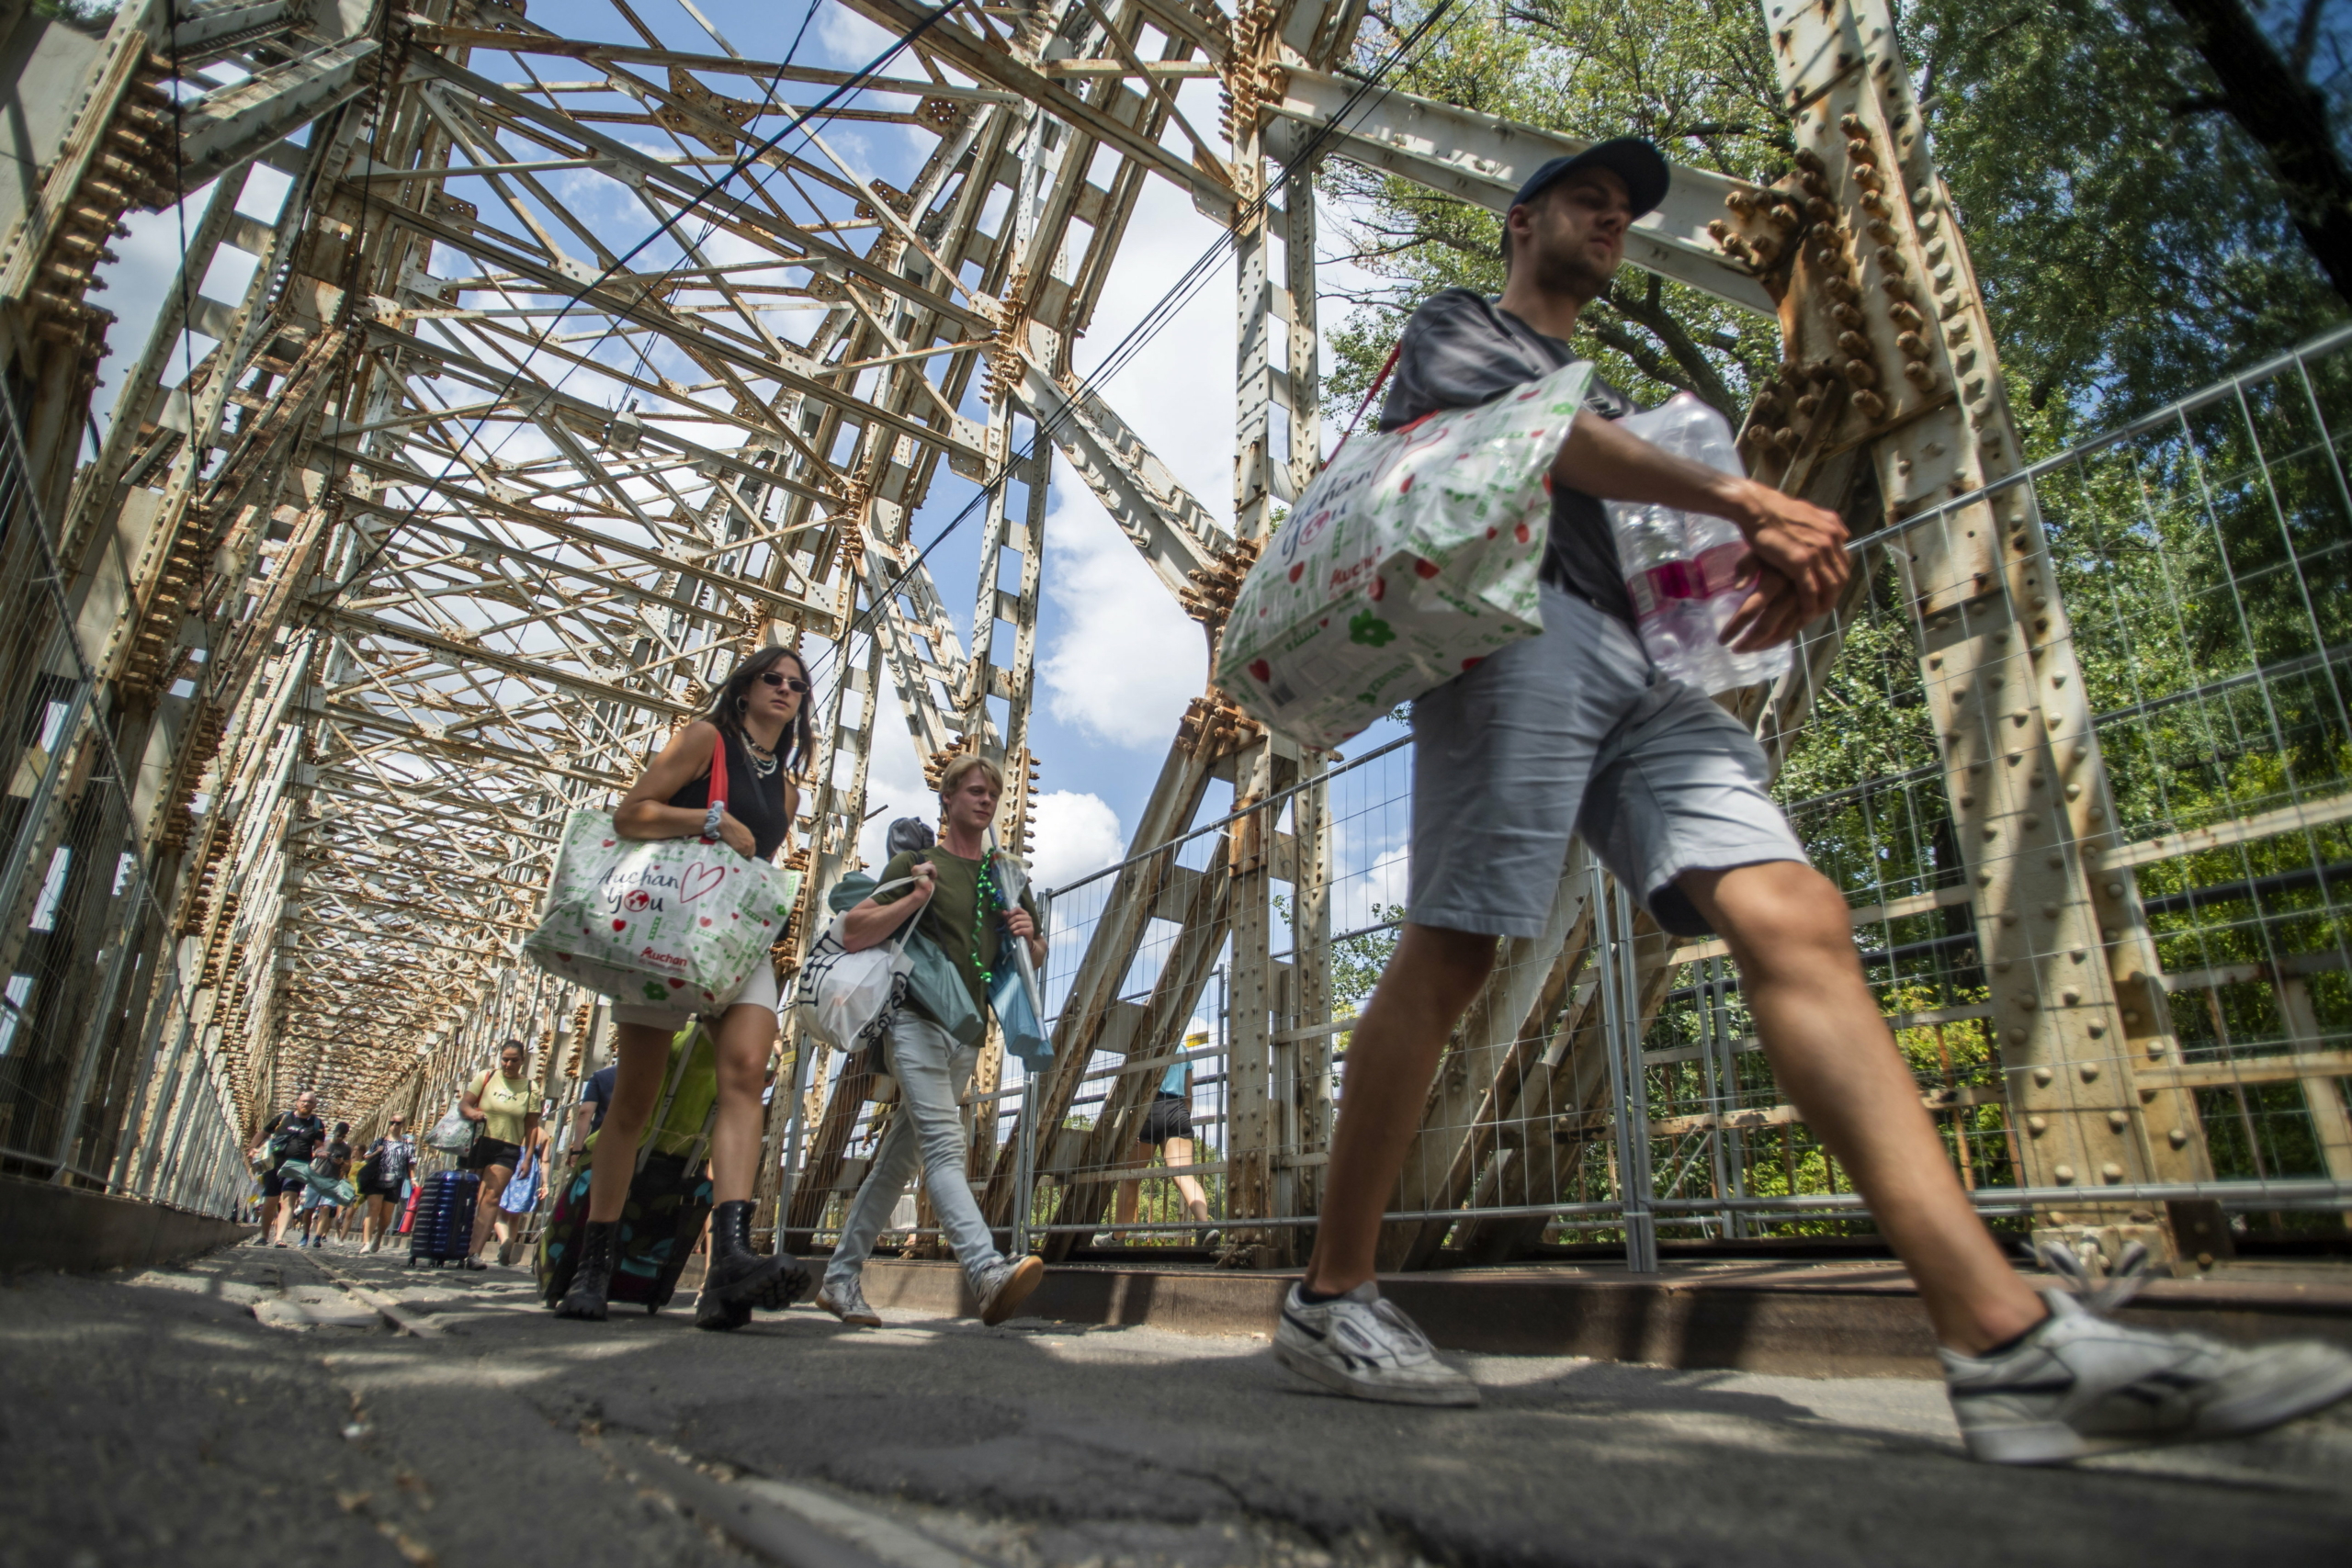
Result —
[[1054, 461], [1044, 590], [1058, 630], [1037, 661], [1047, 708], [1096, 741], [1164, 748], [1209, 677], [1209, 644], [1094, 494]]

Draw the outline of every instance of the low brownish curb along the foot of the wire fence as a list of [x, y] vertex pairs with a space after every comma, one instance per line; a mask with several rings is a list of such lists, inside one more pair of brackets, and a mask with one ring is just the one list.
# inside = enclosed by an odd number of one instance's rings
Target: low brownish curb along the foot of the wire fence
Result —
[[[1047, 1269], [1023, 1316], [1171, 1333], [1270, 1335], [1296, 1274]], [[953, 1262], [866, 1267], [877, 1307], [969, 1312]], [[1381, 1291], [1444, 1349], [1592, 1356], [1797, 1378], [1940, 1378], [1926, 1309], [1900, 1269], [1738, 1276], [1592, 1276], [1548, 1269], [1390, 1274]], [[2319, 1338], [2352, 1347], [2352, 1286], [2150, 1281], [2119, 1314], [2220, 1340]]]

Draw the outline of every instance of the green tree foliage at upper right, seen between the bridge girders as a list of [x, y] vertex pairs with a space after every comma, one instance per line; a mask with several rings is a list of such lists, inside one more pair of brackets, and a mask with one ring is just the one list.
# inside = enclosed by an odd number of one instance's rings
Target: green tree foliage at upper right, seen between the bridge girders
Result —
[[[2234, 7], [2237, 0], [2213, 0]], [[1962, 214], [2027, 437], [2056, 449], [2347, 315], [2298, 233], [2310, 207], [2249, 134], [2253, 110], [2199, 54], [2199, 0], [1910, 0], [1900, 5], [1936, 160]], [[2277, 16], [2272, 16], [2272, 9]], [[2256, 5], [2340, 146], [2352, 127], [2347, 24], [2312, 0]], [[1425, 0], [1376, 12], [1390, 40]], [[1385, 47], [1385, 45], [1381, 45]], [[1458, 0], [1397, 85], [1569, 136], [1642, 134], [1686, 167], [1771, 181], [1795, 141], [1755, 5]], [[2310, 162], [2310, 160], [2305, 160]], [[2324, 179], [2321, 179], [2324, 183]], [[1498, 219], [1390, 174], [1334, 162], [1348, 256], [1378, 287], [1334, 331], [1324, 388], [1352, 414], [1404, 317], [1444, 287], [1501, 289]], [[1778, 331], [1628, 268], [1578, 350], [1642, 402], [1691, 390], [1745, 414]]]

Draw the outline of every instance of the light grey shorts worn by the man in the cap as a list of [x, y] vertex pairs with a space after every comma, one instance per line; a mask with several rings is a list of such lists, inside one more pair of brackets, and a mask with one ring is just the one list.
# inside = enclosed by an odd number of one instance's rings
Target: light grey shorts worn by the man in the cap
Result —
[[1406, 919], [1543, 936], [1581, 835], [1661, 926], [1705, 936], [1675, 877], [1806, 858], [1766, 778], [1738, 719], [1661, 677], [1630, 625], [1545, 585], [1541, 635], [1414, 703]]

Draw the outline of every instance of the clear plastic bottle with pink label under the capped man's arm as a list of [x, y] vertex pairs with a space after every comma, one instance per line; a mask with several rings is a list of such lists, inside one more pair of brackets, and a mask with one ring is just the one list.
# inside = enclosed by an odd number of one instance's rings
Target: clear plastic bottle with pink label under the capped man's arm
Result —
[[[1618, 425], [1679, 458], [1745, 473], [1731, 425], [1691, 393], [1675, 393], [1646, 414], [1628, 414]], [[1736, 524], [1630, 501], [1609, 501], [1606, 510], [1642, 646], [1661, 672], [1710, 696], [1788, 672], [1785, 644], [1757, 654], [1724, 646], [1724, 628], [1748, 599], [1738, 581], [1748, 538]]]

